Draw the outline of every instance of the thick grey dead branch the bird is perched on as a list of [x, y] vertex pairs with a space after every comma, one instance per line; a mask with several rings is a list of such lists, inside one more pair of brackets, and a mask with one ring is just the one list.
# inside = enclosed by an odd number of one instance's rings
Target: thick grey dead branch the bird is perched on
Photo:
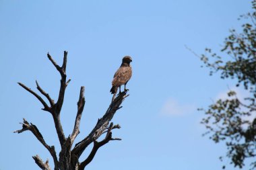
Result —
[[115, 112], [117, 112], [117, 110], [121, 108], [120, 105], [123, 102], [123, 99], [125, 99], [125, 97], [128, 96], [126, 95], [126, 93], [126, 91], [119, 93], [119, 96], [117, 96], [113, 100], [113, 102], [110, 103], [110, 106], [104, 114], [104, 116], [100, 120], [98, 120], [92, 132], [90, 132], [90, 134], [86, 136], [84, 140], [75, 144], [75, 147], [71, 151], [72, 157], [74, 157], [75, 159], [79, 159], [79, 157], [82, 155], [86, 147], [89, 146], [89, 144], [91, 144], [92, 142], [94, 142], [94, 140], [97, 140], [97, 138], [104, 133], [104, 130], [106, 130], [110, 120], [112, 120], [113, 116], [115, 115]]

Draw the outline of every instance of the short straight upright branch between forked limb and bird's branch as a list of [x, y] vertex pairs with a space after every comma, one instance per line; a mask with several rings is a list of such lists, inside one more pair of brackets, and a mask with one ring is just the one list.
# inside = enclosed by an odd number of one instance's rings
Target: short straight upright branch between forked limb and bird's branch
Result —
[[77, 102], [77, 116], [75, 118], [75, 126], [71, 134], [71, 144], [73, 144], [73, 141], [75, 140], [77, 134], [79, 134], [79, 125], [80, 125], [80, 120], [82, 117], [85, 103], [86, 103], [86, 99], [84, 98], [84, 86], [82, 86], [80, 89], [80, 95]]

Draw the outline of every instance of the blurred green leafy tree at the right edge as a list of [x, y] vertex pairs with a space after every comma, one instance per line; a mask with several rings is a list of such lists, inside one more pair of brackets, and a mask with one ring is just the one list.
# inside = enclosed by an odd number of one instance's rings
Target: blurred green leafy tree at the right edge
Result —
[[[226, 157], [234, 167], [243, 168], [245, 160], [256, 167], [256, 0], [252, 1], [253, 11], [241, 15], [245, 20], [241, 31], [230, 30], [224, 40], [221, 56], [206, 48], [201, 56], [210, 75], [220, 73], [222, 79], [234, 79], [236, 86], [249, 92], [244, 99], [238, 99], [234, 91], [228, 92], [227, 99], [218, 99], [205, 112], [201, 123], [207, 128], [214, 142], [225, 142]], [[222, 159], [222, 157], [220, 157]], [[223, 167], [225, 168], [225, 166]]]

